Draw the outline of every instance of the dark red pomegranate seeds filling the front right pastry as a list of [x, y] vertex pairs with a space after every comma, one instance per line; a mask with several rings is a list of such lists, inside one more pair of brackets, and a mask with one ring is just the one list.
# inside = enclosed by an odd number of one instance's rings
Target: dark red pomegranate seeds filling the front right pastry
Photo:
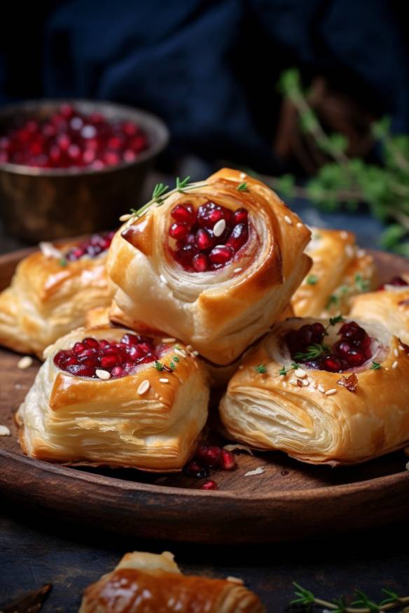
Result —
[[[324, 344], [326, 336], [324, 325], [313, 323], [287, 332], [285, 340], [291, 358], [295, 362], [328, 372], [342, 372], [356, 368], [371, 358], [371, 339], [356, 322], [344, 323], [338, 335], [340, 339], [332, 347], [328, 347]], [[319, 346], [321, 346], [321, 351], [317, 351]], [[315, 353], [320, 353], [320, 355], [310, 357], [308, 354], [311, 353], [311, 348], [315, 348]], [[304, 357], [300, 357], [300, 354], [304, 354]]]

